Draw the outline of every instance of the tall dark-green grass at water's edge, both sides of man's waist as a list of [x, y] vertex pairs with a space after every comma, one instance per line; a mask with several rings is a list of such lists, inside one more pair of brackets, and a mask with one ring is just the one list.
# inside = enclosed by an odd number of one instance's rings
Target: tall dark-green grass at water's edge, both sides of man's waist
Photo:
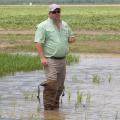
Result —
[[[79, 58], [72, 54], [66, 59], [68, 64], [79, 61]], [[39, 69], [42, 69], [42, 65], [38, 56], [0, 53], [0, 76]]]

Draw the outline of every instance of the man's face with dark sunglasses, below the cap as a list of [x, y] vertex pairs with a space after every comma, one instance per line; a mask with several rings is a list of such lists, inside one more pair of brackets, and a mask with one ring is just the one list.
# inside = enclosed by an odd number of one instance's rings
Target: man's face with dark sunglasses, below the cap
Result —
[[61, 9], [57, 8], [54, 11], [49, 12], [49, 15], [53, 20], [58, 21], [60, 20], [60, 13], [61, 13]]

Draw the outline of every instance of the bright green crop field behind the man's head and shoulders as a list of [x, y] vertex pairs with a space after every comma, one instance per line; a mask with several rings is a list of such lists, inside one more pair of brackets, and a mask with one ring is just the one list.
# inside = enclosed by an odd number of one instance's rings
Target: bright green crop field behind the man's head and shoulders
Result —
[[[47, 14], [48, 6], [0, 6], [0, 28], [35, 29]], [[120, 30], [119, 6], [62, 6], [62, 17], [74, 29]]]

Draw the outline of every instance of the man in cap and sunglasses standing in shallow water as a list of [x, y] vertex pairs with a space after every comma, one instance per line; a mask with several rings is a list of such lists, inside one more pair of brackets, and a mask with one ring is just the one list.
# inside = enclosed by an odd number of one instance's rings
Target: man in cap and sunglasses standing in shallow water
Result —
[[37, 26], [34, 42], [47, 79], [41, 83], [44, 86], [44, 109], [54, 110], [59, 108], [59, 99], [64, 89], [65, 57], [69, 43], [75, 42], [75, 38], [68, 24], [61, 20], [59, 5], [49, 5], [48, 16], [47, 20]]

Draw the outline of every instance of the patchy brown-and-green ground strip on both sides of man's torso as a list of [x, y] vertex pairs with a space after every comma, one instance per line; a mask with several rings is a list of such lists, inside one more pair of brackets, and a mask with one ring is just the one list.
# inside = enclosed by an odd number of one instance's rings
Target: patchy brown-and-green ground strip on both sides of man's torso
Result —
[[[120, 34], [80, 34], [76, 32], [76, 43], [70, 45], [72, 52], [120, 53]], [[0, 34], [0, 51], [35, 52], [34, 34]]]

